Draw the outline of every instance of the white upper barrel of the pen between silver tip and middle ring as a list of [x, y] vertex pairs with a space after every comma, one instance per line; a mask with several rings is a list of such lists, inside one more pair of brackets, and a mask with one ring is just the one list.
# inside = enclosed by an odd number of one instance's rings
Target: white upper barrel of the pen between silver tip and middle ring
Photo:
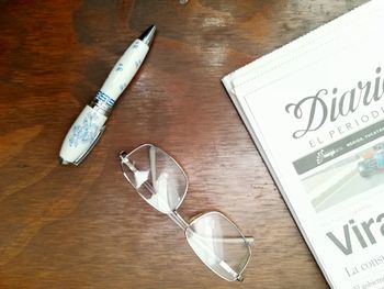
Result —
[[137, 73], [148, 49], [148, 45], [139, 40], [131, 44], [122, 57], [120, 57], [100, 89], [101, 96], [105, 98], [104, 101], [113, 104], [117, 100]]

